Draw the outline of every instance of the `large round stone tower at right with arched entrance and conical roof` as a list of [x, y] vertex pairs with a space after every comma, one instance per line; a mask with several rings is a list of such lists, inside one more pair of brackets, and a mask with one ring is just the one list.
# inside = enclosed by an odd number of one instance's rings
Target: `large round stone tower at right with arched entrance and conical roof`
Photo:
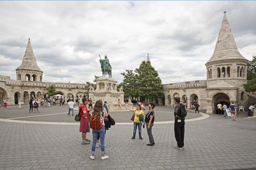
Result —
[[216, 113], [216, 105], [231, 102], [242, 105], [247, 102], [243, 84], [247, 79], [247, 62], [238, 51], [226, 11], [219, 31], [213, 56], [205, 64], [207, 68], [207, 113]]

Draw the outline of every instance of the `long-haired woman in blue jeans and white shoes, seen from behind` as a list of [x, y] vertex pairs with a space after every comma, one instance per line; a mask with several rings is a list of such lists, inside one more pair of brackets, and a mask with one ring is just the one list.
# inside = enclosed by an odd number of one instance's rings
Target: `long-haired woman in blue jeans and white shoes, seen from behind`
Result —
[[93, 111], [92, 114], [95, 116], [101, 116], [100, 121], [102, 122], [102, 127], [101, 129], [92, 129], [92, 133], [93, 133], [93, 142], [91, 145], [91, 159], [95, 159], [94, 158], [94, 154], [95, 154], [95, 149], [96, 149], [96, 141], [97, 141], [97, 137], [99, 135], [100, 139], [101, 139], [101, 159], [107, 159], [109, 158], [109, 156], [105, 155], [105, 123], [104, 123], [104, 111], [103, 111], [103, 103], [101, 100], [97, 100], [95, 102], [95, 105], [93, 107]]

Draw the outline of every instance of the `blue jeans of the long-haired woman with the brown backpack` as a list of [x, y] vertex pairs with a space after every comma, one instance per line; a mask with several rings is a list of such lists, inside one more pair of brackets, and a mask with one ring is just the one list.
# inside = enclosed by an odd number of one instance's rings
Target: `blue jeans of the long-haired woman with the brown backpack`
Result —
[[101, 129], [92, 129], [93, 132], [93, 142], [91, 144], [91, 154], [95, 154], [97, 137], [101, 138], [101, 155], [105, 155], [105, 126], [102, 126]]

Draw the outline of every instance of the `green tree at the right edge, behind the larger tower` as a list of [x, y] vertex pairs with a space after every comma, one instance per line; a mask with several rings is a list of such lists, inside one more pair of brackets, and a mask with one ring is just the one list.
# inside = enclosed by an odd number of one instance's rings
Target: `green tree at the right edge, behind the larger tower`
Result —
[[246, 92], [256, 91], [256, 56], [247, 63], [247, 83], [243, 87]]

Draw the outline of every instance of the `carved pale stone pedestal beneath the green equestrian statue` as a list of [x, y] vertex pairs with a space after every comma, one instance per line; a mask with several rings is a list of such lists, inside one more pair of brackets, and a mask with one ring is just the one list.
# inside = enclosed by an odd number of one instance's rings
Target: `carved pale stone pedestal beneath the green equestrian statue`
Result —
[[[104, 101], [107, 101], [107, 103], [109, 104], [109, 111], [129, 109], [123, 100], [123, 91], [117, 91], [117, 81], [109, 77], [99, 77], [96, 80], [96, 84], [96, 90], [89, 91], [89, 98], [91, 98], [92, 100], [101, 99], [103, 103]], [[120, 99], [121, 101], [121, 107], [117, 104], [118, 99]], [[129, 103], [129, 105], [130, 108], [133, 107], [132, 103]]]

